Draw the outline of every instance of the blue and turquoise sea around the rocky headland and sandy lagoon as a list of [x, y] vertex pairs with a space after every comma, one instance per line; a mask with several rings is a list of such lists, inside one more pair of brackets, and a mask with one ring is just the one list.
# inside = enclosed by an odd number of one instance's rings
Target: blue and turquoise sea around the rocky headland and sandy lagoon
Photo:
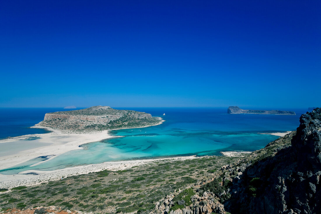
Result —
[[[100, 142], [84, 144], [47, 160], [47, 156], [0, 170], [1, 174], [16, 174], [25, 170], [55, 170], [77, 165], [99, 164], [106, 161], [140, 159], [162, 156], [221, 155], [221, 151], [255, 151], [278, 136], [260, 134], [296, 130], [297, 115], [227, 114], [227, 108], [116, 108], [151, 113], [166, 120], [158, 126], [110, 131], [113, 136]], [[26, 134], [48, 133], [30, 126], [43, 120], [45, 113], [64, 111], [61, 108], [0, 108], [0, 138]], [[67, 111], [67, 110], [65, 110]], [[163, 116], [163, 113], [166, 115]], [[39, 147], [36, 138], [24, 140], [26, 147]], [[2, 143], [3, 144], [3, 143]], [[0, 144], [0, 151], [13, 152], [13, 145]], [[10, 150], [11, 149], [11, 150]], [[10, 151], [9, 151], [10, 150]], [[48, 154], [52, 155], [52, 154]], [[0, 152], [1, 156], [1, 152]]]

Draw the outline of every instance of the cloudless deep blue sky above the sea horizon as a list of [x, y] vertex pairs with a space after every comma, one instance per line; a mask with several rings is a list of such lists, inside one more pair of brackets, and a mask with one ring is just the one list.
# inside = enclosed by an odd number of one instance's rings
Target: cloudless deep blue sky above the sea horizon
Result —
[[321, 1], [0, 4], [0, 107], [321, 105]]

